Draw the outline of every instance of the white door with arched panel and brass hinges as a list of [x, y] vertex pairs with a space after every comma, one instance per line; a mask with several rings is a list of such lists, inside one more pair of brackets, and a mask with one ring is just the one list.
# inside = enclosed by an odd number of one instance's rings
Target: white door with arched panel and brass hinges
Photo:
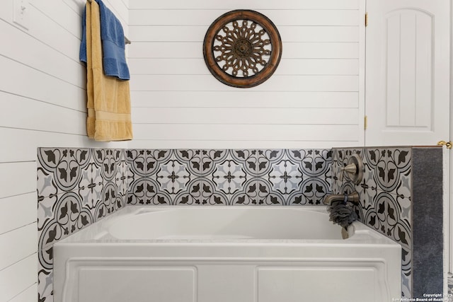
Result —
[[367, 0], [366, 146], [449, 141], [450, 0]]

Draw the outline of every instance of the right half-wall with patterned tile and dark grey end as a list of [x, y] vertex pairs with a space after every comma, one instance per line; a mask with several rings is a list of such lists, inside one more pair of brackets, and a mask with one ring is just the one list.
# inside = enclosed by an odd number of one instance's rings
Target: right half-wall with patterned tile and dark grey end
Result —
[[[358, 185], [348, 180], [347, 174], [340, 181], [340, 168], [348, 164], [353, 153], [357, 153], [365, 165], [364, 179]], [[415, 185], [420, 182], [425, 186]], [[333, 149], [332, 191], [334, 194], [357, 191], [360, 204], [355, 211], [360, 221], [401, 245], [403, 298], [423, 298], [423, 293], [428, 292], [442, 293], [439, 284], [439, 281], [442, 283], [443, 249], [442, 149]], [[414, 211], [417, 219], [413, 219]], [[430, 235], [423, 236], [427, 232]], [[427, 246], [425, 254], [430, 254], [430, 260], [420, 255], [420, 250]], [[414, 279], [414, 276], [419, 277]]]

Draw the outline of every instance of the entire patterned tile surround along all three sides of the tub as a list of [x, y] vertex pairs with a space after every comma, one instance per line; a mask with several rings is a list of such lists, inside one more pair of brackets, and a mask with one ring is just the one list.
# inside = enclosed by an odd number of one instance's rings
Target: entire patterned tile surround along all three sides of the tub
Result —
[[[420, 198], [412, 187], [418, 180], [412, 173], [417, 150], [39, 148], [38, 300], [53, 301], [53, 243], [122, 207], [316, 206], [326, 194], [355, 190], [360, 221], [401, 244], [402, 295], [411, 298], [418, 286], [413, 280], [418, 261], [414, 238], [422, 238], [413, 233], [413, 203]], [[359, 185], [347, 175], [340, 181], [340, 168], [353, 153], [365, 163]], [[423, 216], [423, 209], [416, 214]]]

